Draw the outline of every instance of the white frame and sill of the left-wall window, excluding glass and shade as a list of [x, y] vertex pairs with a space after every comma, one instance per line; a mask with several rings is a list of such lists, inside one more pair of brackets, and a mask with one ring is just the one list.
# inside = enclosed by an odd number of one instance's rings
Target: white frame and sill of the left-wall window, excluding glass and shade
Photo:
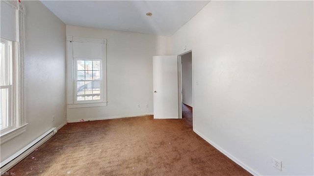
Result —
[[[0, 130], [0, 144], [26, 131], [25, 99], [24, 99], [24, 49], [25, 49], [25, 6], [18, 0], [5, 0], [15, 10], [16, 40], [12, 42], [12, 70], [11, 70], [11, 126]], [[1, 37], [1, 40], [5, 40]]]

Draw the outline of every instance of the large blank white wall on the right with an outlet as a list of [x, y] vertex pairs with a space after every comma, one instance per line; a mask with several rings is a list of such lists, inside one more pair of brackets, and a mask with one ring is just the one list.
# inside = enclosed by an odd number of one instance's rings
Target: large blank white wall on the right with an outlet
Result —
[[253, 174], [314, 175], [313, 16], [313, 1], [210, 1], [172, 37], [193, 52], [194, 131]]

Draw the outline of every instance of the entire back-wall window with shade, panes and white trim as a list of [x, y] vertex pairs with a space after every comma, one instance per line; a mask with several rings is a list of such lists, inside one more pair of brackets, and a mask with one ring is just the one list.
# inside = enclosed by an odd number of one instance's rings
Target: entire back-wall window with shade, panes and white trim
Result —
[[67, 37], [69, 108], [106, 105], [106, 40]]

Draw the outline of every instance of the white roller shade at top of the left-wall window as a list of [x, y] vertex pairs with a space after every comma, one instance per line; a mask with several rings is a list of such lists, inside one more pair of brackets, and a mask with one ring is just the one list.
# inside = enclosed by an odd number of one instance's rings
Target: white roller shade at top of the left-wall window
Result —
[[16, 31], [16, 9], [4, 1], [0, 1], [0, 36], [1, 38], [18, 41]]

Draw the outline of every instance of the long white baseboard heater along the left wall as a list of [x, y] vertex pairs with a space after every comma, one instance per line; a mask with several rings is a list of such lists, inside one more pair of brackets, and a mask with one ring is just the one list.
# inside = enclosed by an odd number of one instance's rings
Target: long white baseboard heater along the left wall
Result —
[[7, 172], [14, 165], [16, 165], [22, 159], [24, 159], [28, 154], [30, 154], [32, 151], [36, 150], [44, 142], [46, 142], [48, 139], [50, 139], [56, 132], [57, 132], [56, 127], [51, 128], [50, 130], [45, 132], [43, 135], [41, 135], [37, 139], [35, 139], [33, 142], [31, 142], [30, 144], [25, 146], [23, 149], [14, 153], [12, 156], [5, 159], [4, 161], [2, 161], [0, 164], [0, 166], [1, 166], [0, 172], [1, 173]]

